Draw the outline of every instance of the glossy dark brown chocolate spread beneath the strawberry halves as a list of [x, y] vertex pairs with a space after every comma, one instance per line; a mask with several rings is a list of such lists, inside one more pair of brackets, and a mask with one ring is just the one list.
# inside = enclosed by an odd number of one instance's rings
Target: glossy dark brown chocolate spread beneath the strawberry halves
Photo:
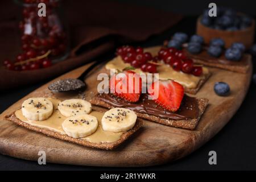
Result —
[[138, 102], [128, 102], [122, 98], [118, 98], [113, 94], [97, 94], [101, 101], [106, 102], [114, 107], [125, 107], [134, 110], [137, 113], [155, 115], [156, 117], [172, 120], [194, 119], [199, 115], [199, 108], [196, 98], [184, 95], [180, 109], [175, 113], [164, 109], [156, 104], [153, 100], [148, 100], [147, 94], [142, 94]]

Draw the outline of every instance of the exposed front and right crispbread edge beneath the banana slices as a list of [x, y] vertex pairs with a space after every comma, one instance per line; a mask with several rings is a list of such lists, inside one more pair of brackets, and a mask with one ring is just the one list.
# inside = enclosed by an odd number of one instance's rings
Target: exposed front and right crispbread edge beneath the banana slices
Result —
[[72, 138], [72, 137], [69, 137], [68, 135], [63, 135], [63, 134], [57, 133], [56, 131], [52, 131], [52, 130], [49, 130], [49, 129], [43, 129], [43, 128], [40, 128], [40, 127], [32, 126], [32, 125], [30, 125], [30, 124], [28, 124], [26, 122], [20, 121], [20, 119], [17, 118], [14, 113], [12, 113], [10, 115], [6, 115], [5, 119], [8, 120], [8, 121], [14, 122], [14, 123], [16, 123], [19, 126], [23, 126], [26, 129], [29, 129], [29, 130], [32, 130], [32, 131], [36, 131], [38, 133], [45, 134], [45, 135], [47, 135], [49, 137], [53, 137], [53, 138], [65, 140], [65, 141], [68, 141], [68, 142], [80, 144], [80, 145], [86, 146], [86, 147], [101, 148], [101, 149], [104, 149], [104, 150], [113, 150], [115, 147], [117, 147], [121, 143], [125, 142], [125, 140], [127, 140], [131, 135], [133, 135], [135, 133], [135, 131], [137, 131], [143, 125], [143, 121], [138, 118], [136, 123], [135, 123], [135, 125], [134, 125], [134, 127], [133, 127], [133, 129], [123, 133], [121, 135], [121, 138], [119, 140], [117, 140], [116, 142], [111, 142], [111, 143], [91, 143], [91, 142], [88, 142], [86, 140]]

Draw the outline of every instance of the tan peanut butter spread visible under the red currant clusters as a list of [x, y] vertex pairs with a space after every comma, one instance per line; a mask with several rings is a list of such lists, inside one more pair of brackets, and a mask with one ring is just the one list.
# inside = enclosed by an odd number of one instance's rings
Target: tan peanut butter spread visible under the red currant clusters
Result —
[[[160, 48], [160, 47], [159, 47]], [[148, 49], [153, 56], [157, 55], [159, 48]], [[147, 50], [147, 49], [146, 49]], [[117, 69], [122, 71], [124, 68], [130, 67], [129, 63], [124, 63], [121, 56], [115, 57], [113, 60], [109, 61], [106, 65], [106, 69]], [[134, 70], [136, 73], [145, 73], [141, 69], [137, 68]], [[179, 84], [185, 86], [186, 88], [193, 89], [197, 87], [199, 81], [205, 78], [205, 75], [209, 73], [208, 69], [203, 67], [203, 74], [201, 76], [194, 76], [192, 74], [187, 74], [183, 72], [177, 72], [170, 67], [170, 65], [162, 64], [158, 65], [157, 73], [159, 73], [159, 80], [174, 80], [179, 82]]]

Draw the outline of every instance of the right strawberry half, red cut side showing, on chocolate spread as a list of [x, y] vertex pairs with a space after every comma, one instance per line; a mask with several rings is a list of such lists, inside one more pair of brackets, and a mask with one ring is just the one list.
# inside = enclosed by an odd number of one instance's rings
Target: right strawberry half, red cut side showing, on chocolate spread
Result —
[[[158, 89], [159, 94], [158, 97], [155, 98], [154, 93], [156, 89]], [[153, 100], [156, 104], [164, 107], [164, 109], [175, 112], [180, 107], [184, 96], [184, 88], [182, 85], [172, 80], [156, 81], [153, 82], [148, 89], [148, 94], [153, 96]]]

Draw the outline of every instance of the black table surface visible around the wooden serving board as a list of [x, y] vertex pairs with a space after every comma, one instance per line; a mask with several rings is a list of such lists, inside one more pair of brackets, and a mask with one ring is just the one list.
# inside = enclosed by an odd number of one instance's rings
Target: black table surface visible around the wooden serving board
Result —
[[[170, 39], [176, 31], [186, 32], [188, 35], [195, 34], [196, 17], [184, 18], [176, 26], [170, 28], [161, 35], [152, 36], [146, 42], [133, 44], [134, 46], [155, 46], [162, 44], [163, 40]], [[111, 58], [114, 50], [97, 59]], [[256, 61], [254, 59], [254, 61]], [[35, 85], [27, 85], [22, 88], [7, 90], [0, 94], [0, 112], [14, 104], [20, 98], [26, 96], [49, 80]], [[232, 89], [232, 88], [231, 88]], [[102, 170], [102, 169], [146, 169], [146, 170], [255, 170], [256, 169], [256, 84], [250, 85], [240, 109], [229, 123], [209, 142], [185, 158], [176, 162], [160, 166], [143, 168], [105, 168], [71, 166], [66, 164], [47, 163], [39, 165], [38, 162], [16, 159], [10, 156], [0, 155], [0, 169], [2, 170]], [[216, 151], [217, 165], [209, 165], [208, 153]]]

